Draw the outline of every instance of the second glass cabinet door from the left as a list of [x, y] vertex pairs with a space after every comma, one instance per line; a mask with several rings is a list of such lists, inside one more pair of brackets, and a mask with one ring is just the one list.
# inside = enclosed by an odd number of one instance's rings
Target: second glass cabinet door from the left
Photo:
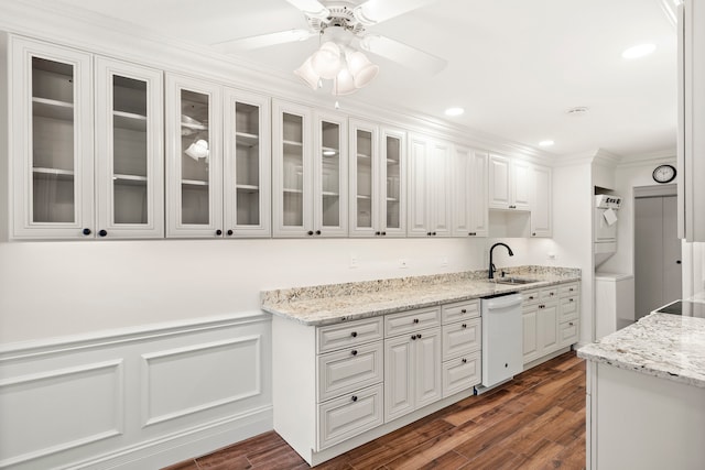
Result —
[[163, 237], [161, 73], [98, 57], [96, 84], [97, 234]]

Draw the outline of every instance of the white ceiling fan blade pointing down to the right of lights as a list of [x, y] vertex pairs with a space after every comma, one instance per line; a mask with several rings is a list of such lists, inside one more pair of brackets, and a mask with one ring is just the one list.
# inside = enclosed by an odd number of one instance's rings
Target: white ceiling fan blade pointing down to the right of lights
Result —
[[448, 64], [444, 58], [377, 34], [368, 34], [362, 37], [360, 47], [372, 54], [394, 61], [406, 68], [429, 75], [437, 74]]

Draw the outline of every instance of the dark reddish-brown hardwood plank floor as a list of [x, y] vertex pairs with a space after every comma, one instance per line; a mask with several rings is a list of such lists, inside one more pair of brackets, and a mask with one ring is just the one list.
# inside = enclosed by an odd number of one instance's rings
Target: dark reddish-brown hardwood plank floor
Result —
[[[274, 431], [169, 470], [310, 468]], [[585, 361], [566, 352], [316, 469], [584, 469]]]

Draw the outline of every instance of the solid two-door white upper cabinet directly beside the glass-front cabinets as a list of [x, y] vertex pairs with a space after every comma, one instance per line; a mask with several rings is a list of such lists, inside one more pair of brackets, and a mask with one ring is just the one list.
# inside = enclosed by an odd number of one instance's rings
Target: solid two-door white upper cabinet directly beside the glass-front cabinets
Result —
[[409, 147], [409, 237], [449, 237], [451, 145], [413, 135]]

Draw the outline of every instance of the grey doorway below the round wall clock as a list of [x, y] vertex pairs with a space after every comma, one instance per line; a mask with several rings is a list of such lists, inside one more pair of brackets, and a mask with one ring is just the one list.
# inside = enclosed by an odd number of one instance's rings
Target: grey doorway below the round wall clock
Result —
[[634, 188], [634, 319], [682, 297], [675, 185]]

